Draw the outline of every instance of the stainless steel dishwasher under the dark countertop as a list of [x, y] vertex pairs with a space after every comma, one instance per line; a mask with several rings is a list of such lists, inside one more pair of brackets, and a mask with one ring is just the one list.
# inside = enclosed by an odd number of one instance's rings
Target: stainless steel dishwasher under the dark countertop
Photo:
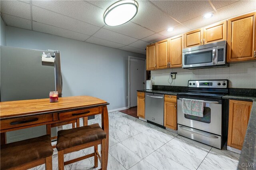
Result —
[[164, 95], [146, 93], [145, 119], [164, 126]]

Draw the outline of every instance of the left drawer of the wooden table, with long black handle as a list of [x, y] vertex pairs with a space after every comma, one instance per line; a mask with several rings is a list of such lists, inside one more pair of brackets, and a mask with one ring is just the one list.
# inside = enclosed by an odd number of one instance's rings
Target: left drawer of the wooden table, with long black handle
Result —
[[53, 114], [36, 115], [29, 117], [22, 117], [16, 119], [6, 119], [1, 121], [1, 129], [23, 127], [28, 125], [34, 125], [38, 123], [53, 121]]

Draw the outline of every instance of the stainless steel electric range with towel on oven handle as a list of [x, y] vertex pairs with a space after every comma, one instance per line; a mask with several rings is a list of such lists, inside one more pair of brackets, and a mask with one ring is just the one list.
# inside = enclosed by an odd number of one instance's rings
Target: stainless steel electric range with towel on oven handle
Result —
[[[228, 80], [189, 80], [188, 92], [178, 93], [178, 134], [221, 149], [227, 139]], [[203, 117], [184, 114], [182, 99], [202, 100]]]

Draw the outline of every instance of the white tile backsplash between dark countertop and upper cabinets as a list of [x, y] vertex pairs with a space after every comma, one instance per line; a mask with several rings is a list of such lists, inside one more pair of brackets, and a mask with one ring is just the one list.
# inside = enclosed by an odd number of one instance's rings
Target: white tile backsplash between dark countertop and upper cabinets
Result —
[[[153, 85], [170, 85], [171, 72], [177, 72], [172, 86], [187, 86], [188, 80], [228, 79], [232, 88], [256, 88], [256, 61], [231, 63], [229, 67], [209, 69], [165, 69], [151, 71]], [[171, 80], [170, 80], [171, 82]]]

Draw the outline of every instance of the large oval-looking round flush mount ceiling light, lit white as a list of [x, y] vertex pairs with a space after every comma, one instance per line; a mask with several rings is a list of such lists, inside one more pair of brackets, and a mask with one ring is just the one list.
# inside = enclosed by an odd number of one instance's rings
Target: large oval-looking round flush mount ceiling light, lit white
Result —
[[104, 13], [104, 22], [108, 26], [120, 26], [130, 21], [138, 12], [135, 0], [120, 0], [112, 4]]

